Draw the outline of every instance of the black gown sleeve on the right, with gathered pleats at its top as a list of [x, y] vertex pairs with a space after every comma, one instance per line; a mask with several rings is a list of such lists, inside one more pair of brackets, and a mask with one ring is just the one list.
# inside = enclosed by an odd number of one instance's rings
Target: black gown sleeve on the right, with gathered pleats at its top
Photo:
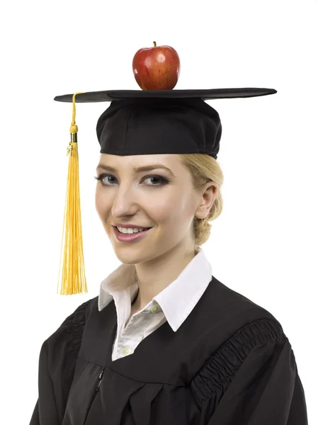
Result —
[[307, 425], [293, 348], [279, 322], [244, 325], [191, 382], [205, 425]]

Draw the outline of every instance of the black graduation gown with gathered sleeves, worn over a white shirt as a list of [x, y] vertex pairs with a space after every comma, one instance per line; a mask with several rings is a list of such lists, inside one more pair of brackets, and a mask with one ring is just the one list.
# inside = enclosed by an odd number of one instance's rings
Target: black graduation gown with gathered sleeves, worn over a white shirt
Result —
[[115, 361], [115, 303], [97, 302], [42, 344], [30, 425], [307, 425], [280, 323], [214, 276], [178, 331], [165, 322]]

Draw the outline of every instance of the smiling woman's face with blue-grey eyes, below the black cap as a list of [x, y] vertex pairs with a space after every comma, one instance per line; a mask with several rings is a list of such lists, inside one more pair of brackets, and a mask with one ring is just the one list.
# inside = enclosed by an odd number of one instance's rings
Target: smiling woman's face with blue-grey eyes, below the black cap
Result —
[[[171, 171], [158, 166], [147, 171], [134, 169], [153, 164]], [[103, 165], [114, 170], [103, 169]], [[177, 244], [193, 249], [192, 220], [203, 197], [195, 192], [191, 174], [177, 154], [101, 154], [96, 176], [101, 177], [96, 182], [96, 210], [121, 262], [147, 261]], [[198, 217], [208, 215], [206, 205], [200, 208]], [[133, 242], [120, 242], [115, 237], [115, 223], [152, 229]]]

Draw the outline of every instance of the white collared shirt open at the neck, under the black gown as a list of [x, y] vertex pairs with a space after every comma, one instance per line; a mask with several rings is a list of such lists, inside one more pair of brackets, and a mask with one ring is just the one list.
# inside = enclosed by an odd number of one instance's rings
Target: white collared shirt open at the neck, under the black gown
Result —
[[138, 292], [134, 264], [121, 264], [101, 282], [98, 310], [114, 300], [117, 311], [117, 332], [113, 343], [112, 360], [128, 356], [146, 336], [168, 321], [177, 331], [202, 297], [212, 280], [212, 266], [199, 247], [190, 263], [178, 278], [139, 312], [130, 317], [132, 301]]

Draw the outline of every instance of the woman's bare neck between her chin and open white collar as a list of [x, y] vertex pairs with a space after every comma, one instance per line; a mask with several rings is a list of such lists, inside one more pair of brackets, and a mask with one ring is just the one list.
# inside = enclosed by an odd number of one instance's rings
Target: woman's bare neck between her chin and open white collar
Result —
[[192, 247], [174, 246], [170, 251], [151, 261], [135, 264], [139, 293], [133, 304], [135, 310], [142, 310], [157, 294], [170, 285], [198, 254]]

